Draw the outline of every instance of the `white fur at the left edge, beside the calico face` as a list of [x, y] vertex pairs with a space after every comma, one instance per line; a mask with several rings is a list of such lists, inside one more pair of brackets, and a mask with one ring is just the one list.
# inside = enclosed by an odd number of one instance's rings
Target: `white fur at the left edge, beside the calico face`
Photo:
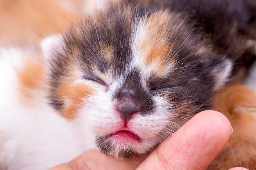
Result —
[[93, 139], [88, 137], [88, 143], [83, 143], [74, 125], [59, 116], [42, 95], [29, 106], [22, 103], [26, 98], [20, 95], [17, 69], [22, 68], [27, 53], [0, 49], [1, 170], [47, 170], [94, 147]]

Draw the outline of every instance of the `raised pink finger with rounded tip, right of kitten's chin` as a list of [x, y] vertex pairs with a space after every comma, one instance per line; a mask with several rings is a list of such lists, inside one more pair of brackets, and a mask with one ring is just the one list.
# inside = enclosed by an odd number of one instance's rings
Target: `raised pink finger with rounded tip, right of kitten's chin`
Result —
[[231, 133], [231, 124], [223, 114], [203, 111], [166, 139], [137, 170], [205, 169], [225, 146]]

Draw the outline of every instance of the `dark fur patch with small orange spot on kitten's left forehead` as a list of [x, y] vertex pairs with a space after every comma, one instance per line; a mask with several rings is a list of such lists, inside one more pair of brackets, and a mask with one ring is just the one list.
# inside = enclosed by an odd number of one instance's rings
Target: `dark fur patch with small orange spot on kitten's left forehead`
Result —
[[94, 67], [103, 73], [123, 74], [130, 61], [133, 15], [130, 8], [122, 7], [87, 18], [65, 34], [67, 51], [87, 66], [85, 71]]

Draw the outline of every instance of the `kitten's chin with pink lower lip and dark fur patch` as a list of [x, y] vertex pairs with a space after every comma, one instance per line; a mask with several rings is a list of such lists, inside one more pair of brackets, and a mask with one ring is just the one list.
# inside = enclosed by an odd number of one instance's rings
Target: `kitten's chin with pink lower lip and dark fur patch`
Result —
[[[97, 137], [97, 146], [106, 155], [118, 159], [128, 159], [137, 155], [142, 155], [136, 148], [141, 148], [141, 139], [132, 132], [118, 131], [107, 137]], [[145, 150], [146, 152], [146, 150]]]

